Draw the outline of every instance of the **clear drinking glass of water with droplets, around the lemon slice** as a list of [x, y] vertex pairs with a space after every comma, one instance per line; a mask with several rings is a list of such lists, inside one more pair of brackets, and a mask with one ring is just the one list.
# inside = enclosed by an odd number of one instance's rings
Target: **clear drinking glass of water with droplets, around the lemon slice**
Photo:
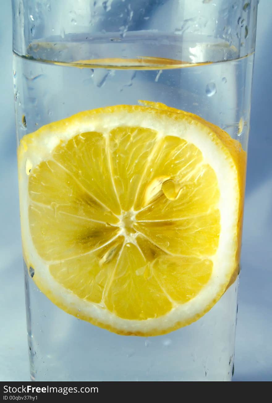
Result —
[[[257, 0], [12, 0], [12, 17], [18, 147], [77, 112], [147, 100], [200, 116], [247, 151]], [[232, 379], [239, 264], [205, 315], [149, 337], [70, 315], [26, 257], [24, 271], [31, 380]]]

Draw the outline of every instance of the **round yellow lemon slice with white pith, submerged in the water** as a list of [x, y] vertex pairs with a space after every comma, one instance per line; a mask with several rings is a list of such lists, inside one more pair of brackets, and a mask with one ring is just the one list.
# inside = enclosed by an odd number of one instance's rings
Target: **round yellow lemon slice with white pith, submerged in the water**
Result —
[[245, 152], [162, 104], [81, 112], [18, 149], [24, 259], [64, 311], [118, 334], [199, 319], [239, 262]]

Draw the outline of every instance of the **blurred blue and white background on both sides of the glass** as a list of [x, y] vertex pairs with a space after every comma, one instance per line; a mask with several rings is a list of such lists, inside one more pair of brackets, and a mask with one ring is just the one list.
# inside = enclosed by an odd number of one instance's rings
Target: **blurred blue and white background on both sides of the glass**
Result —
[[[241, 0], [242, 1], [242, 0]], [[235, 348], [236, 381], [272, 380], [272, 0], [258, 6]], [[0, 380], [29, 380], [17, 191], [10, 0], [0, 14]]]

